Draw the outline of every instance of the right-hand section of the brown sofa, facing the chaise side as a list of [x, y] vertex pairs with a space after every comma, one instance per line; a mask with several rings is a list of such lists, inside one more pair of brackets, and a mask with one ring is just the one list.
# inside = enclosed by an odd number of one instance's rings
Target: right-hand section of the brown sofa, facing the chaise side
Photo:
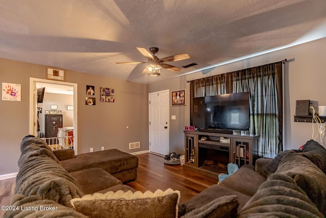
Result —
[[[260, 158], [186, 202], [181, 217], [323, 217], [326, 215], [326, 150], [308, 141], [274, 159]], [[226, 197], [229, 199], [226, 200]]]

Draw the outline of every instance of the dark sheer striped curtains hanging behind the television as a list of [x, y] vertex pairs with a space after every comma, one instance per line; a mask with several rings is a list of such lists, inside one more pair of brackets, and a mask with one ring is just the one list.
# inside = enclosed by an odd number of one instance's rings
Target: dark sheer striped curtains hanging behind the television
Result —
[[193, 80], [190, 82], [191, 100], [249, 91], [250, 134], [260, 136], [258, 152], [260, 155], [279, 153], [283, 151], [282, 66], [281, 61]]

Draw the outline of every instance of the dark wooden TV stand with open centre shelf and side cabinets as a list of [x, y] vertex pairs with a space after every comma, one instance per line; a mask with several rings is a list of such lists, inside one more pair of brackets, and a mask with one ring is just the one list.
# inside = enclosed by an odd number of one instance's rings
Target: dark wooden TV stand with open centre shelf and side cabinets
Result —
[[226, 165], [254, 165], [259, 135], [184, 131], [184, 169], [218, 179]]

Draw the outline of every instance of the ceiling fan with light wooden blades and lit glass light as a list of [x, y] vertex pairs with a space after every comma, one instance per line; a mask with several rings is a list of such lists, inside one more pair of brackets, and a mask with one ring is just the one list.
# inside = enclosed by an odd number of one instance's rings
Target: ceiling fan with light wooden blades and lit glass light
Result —
[[148, 59], [148, 62], [119, 62], [117, 64], [141, 64], [147, 63], [146, 68], [143, 70], [143, 74], [147, 74], [152, 77], [157, 77], [160, 75], [160, 68], [163, 67], [167, 70], [171, 70], [177, 72], [180, 70], [179, 67], [172, 66], [170, 64], [166, 64], [165, 62], [172, 62], [172, 61], [181, 61], [187, 58], [190, 58], [187, 53], [179, 54], [179, 55], [172, 55], [165, 58], [157, 58], [155, 54], [158, 52], [157, 47], [150, 47], [149, 51], [144, 49], [143, 47], [137, 47], [138, 51]]

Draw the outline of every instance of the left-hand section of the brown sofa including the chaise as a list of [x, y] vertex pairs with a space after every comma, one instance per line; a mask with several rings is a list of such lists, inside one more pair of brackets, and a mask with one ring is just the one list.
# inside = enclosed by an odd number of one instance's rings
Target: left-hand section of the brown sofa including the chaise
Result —
[[20, 150], [16, 187], [5, 217], [87, 217], [72, 208], [72, 199], [95, 192], [135, 191], [107, 172], [124, 181], [134, 180], [137, 174], [123, 178], [138, 166], [138, 158], [133, 155], [107, 150], [85, 154], [82, 161], [80, 156], [84, 155], [74, 157], [71, 151], [60, 151], [55, 152], [58, 159], [44, 140], [31, 135], [23, 138]]

